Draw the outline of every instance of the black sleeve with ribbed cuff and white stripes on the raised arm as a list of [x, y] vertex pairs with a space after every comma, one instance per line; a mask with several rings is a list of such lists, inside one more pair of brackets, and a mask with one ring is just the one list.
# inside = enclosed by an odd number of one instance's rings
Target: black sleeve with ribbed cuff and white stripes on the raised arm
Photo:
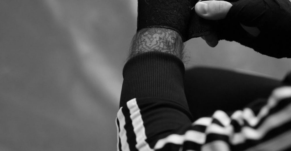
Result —
[[153, 150], [159, 139], [191, 126], [183, 77], [184, 64], [172, 54], [152, 51], [126, 62], [116, 120], [119, 150]]

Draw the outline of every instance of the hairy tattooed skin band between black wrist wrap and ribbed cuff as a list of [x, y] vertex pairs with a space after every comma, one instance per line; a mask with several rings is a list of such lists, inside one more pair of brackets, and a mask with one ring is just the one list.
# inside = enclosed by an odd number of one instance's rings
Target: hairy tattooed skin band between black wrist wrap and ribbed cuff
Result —
[[183, 48], [182, 38], [174, 30], [167, 28], [146, 28], [140, 30], [134, 36], [129, 58], [144, 52], [159, 51], [173, 54], [182, 60]]

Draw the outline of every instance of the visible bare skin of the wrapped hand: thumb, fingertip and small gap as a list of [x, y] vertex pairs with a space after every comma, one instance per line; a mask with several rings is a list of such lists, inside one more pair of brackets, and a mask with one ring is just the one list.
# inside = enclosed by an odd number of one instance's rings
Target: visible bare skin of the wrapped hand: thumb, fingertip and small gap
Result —
[[[195, 12], [204, 19], [220, 20], [226, 17], [232, 6], [233, 5], [227, 1], [203, 1], [196, 3]], [[255, 37], [260, 33], [260, 30], [257, 27], [249, 27], [242, 24], [241, 26], [249, 34]], [[211, 33], [210, 35], [201, 36], [201, 38], [205, 40], [210, 47], [215, 47], [218, 44], [218, 38], [215, 32]]]

